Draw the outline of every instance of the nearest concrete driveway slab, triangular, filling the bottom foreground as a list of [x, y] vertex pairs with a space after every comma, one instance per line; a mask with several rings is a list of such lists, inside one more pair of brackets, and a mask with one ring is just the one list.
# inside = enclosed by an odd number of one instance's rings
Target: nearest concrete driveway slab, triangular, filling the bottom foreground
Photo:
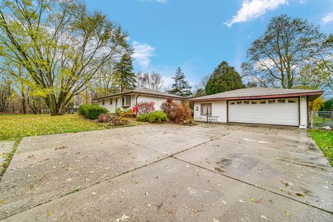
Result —
[[3, 221], [332, 221], [333, 215], [171, 157]]

